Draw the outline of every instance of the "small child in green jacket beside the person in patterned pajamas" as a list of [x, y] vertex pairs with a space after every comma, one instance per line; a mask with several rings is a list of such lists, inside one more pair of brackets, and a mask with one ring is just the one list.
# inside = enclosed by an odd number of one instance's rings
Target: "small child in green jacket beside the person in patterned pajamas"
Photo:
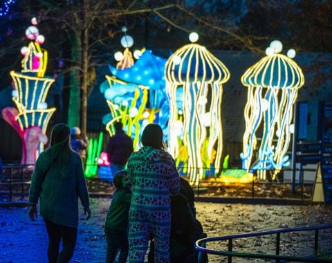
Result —
[[107, 241], [106, 262], [114, 262], [118, 249], [120, 256], [118, 262], [127, 262], [129, 207], [131, 202], [131, 181], [127, 176], [127, 170], [116, 173], [113, 179], [116, 192], [113, 195], [111, 206], [105, 221], [105, 235]]

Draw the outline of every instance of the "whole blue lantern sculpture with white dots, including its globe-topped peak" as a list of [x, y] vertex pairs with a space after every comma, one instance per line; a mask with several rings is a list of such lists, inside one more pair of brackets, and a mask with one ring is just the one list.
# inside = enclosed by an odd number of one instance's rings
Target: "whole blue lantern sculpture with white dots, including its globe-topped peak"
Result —
[[138, 139], [144, 127], [149, 123], [158, 123], [165, 134], [168, 133], [169, 103], [165, 91], [166, 59], [158, 57], [152, 51], [143, 48], [133, 52], [133, 38], [127, 35], [127, 28], [123, 27], [124, 36], [121, 45], [124, 52], [116, 52], [116, 67], [109, 65], [111, 76], [100, 85], [100, 91], [111, 111], [103, 117], [110, 136], [114, 134], [113, 123], [120, 121], [124, 131], [133, 138], [134, 149], [138, 148]]

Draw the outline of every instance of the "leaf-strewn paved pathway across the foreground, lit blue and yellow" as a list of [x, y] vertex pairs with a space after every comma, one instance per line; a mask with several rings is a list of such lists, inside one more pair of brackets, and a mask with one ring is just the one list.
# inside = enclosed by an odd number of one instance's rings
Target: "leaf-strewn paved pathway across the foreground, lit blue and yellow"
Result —
[[[106, 242], [103, 226], [109, 203], [110, 199], [106, 198], [91, 199], [93, 215], [89, 221], [80, 221], [72, 262], [104, 262]], [[331, 206], [196, 203], [196, 208], [197, 217], [203, 222], [205, 232], [210, 237], [332, 223]], [[47, 262], [47, 235], [44, 221], [38, 217], [37, 221], [31, 222], [27, 212], [28, 208], [0, 208], [0, 263]], [[295, 253], [298, 253], [299, 248], [302, 251], [313, 249], [312, 235], [308, 236], [302, 245], [298, 244], [299, 239], [301, 238], [298, 235], [287, 237], [286, 242], [282, 243], [282, 248]], [[332, 247], [331, 238], [329, 242]], [[255, 246], [258, 250], [264, 251], [264, 245], [268, 244], [268, 241], [259, 239], [255, 242], [246, 241], [237, 244], [239, 248]], [[291, 247], [292, 244], [294, 248]], [[210, 262], [225, 262], [225, 258], [211, 257]], [[243, 262], [243, 260], [233, 260], [233, 262]]]

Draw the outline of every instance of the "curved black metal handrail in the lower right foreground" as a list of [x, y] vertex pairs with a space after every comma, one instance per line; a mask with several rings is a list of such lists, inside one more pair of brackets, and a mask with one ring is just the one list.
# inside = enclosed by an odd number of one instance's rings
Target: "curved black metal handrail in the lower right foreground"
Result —
[[[276, 260], [279, 262], [280, 260], [289, 260], [289, 261], [297, 261], [297, 262], [332, 262], [332, 260], [325, 260], [322, 258], [317, 258], [318, 252], [318, 233], [320, 229], [332, 228], [332, 224], [324, 225], [324, 226], [309, 226], [303, 228], [288, 228], [288, 229], [278, 229], [278, 230], [270, 230], [264, 232], [255, 232], [255, 233], [246, 233], [246, 234], [238, 234], [238, 235], [226, 235], [222, 237], [205, 237], [196, 241], [195, 250], [199, 251], [199, 258], [201, 258], [201, 254], [213, 254], [213, 255], [225, 255], [228, 256], [228, 262], [232, 262], [232, 257], [247, 257], [247, 258], [259, 258], [265, 260]], [[288, 256], [288, 255], [279, 255], [280, 252], [280, 235], [281, 233], [289, 233], [289, 232], [299, 232], [299, 231], [309, 231], [315, 230], [315, 244], [314, 244], [314, 256], [315, 257], [298, 257], [298, 256]], [[259, 253], [239, 253], [233, 251], [233, 239], [246, 238], [246, 237], [257, 237], [262, 235], [277, 235], [276, 249], [275, 255], [270, 254], [259, 254]], [[228, 240], [228, 251], [221, 251], [212, 248], [206, 248], [206, 243], [214, 242], [214, 241], [223, 241]], [[199, 262], [200, 263], [200, 262]]]

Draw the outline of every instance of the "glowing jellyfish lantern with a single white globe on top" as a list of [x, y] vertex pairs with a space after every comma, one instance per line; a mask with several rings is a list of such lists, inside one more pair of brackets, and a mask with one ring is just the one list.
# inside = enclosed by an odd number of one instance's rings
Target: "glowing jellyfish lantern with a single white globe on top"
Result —
[[[197, 39], [196, 33], [190, 35], [192, 42]], [[222, 84], [229, 78], [225, 65], [198, 44], [183, 46], [167, 60], [169, 149], [175, 158], [187, 156], [187, 176], [192, 183], [198, 183], [210, 166], [215, 173], [221, 168]]]

